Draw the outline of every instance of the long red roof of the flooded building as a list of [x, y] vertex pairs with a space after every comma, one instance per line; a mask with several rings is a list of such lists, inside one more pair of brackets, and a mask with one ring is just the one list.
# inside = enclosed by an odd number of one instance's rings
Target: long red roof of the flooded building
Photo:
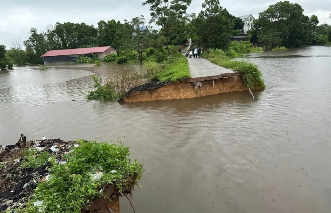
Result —
[[111, 46], [101, 46], [101, 47], [89, 47], [89, 48], [78, 48], [78, 49], [50, 50], [41, 57], [91, 54], [91, 53], [106, 52], [106, 51], [115, 51], [115, 49], [113, 49]]

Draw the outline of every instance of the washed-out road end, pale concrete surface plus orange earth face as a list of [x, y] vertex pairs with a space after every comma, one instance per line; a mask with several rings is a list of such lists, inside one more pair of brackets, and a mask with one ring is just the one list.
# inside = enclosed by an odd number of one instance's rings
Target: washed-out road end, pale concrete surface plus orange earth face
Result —
[[188, 58], [191, 77], [185, 81], [153, 81], [128, 91], [119, 102], [175, 100], [248, 90], [239, 72], [204, 58]]

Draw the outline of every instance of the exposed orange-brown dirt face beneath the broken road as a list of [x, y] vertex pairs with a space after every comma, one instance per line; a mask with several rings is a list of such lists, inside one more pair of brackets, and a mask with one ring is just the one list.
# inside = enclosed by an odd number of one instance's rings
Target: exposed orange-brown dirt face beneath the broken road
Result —
[[174, 100], [248, 90], [239, 72], [190, 78], [187, 82], [152, 82], [133, 88], [119, 102]]

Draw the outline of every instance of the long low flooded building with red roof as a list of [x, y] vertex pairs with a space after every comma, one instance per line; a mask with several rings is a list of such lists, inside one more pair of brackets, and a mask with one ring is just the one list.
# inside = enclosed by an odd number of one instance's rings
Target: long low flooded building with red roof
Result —
[[41, 59], [45, 65], [64, 64], [67, 62], [74, 62], [75, 58], [80, 55], [92, 58], [93, 54], [103, 60], [108, 54], [116, 54], [116, 50], [111, 46], [50, 50], [42, 55]]

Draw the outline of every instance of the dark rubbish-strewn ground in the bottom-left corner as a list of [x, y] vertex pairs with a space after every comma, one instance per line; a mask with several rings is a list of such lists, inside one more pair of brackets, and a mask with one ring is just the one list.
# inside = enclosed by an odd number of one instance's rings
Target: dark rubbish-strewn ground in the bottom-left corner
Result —
[[15, 145], [0, 149], [0, 212], [17, 207], [24, 208], [28, 198], [33, 196], [37, 183], [49, 178], [49, 161], [34, 168], [29, 165], [22, 166], [27, 158], [24, 156], [26, 150], [35, 151], [36, 158], [47, 152], [49, 156], [55, 157], [56, 163], [65, 164], [63, 155], [72, 152], [73, 147], [78, 147], [74, 141], [65, 142], [46, 137], [42, 140], [26, 141], [26, 137], [21, 134]]

